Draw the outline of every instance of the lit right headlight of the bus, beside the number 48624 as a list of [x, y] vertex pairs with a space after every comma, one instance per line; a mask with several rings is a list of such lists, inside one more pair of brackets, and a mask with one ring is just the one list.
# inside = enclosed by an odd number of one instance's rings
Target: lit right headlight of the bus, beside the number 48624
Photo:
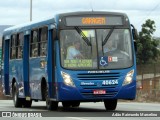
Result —
[[133, 81], [133, 74], [134, 74], [134, 70], [131, 70], [130, 72], [127, 73], [122, 86], [128, 85]]

